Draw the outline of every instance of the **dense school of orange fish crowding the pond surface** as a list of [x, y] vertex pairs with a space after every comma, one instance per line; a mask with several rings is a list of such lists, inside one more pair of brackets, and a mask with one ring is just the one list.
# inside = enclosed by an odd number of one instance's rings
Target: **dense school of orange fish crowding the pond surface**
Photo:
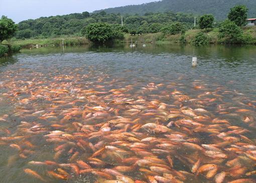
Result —
[[256, 182], [256, 100], [203, 79], [143, 84], [96, 69], [0, 74], [6, 166], [24, 159], [38, 182]]

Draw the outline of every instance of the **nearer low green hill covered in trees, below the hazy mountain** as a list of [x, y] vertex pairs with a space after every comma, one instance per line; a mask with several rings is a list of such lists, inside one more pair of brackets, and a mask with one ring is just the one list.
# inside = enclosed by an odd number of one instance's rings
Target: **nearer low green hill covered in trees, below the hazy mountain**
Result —
[[[188, 28], [193, 26], [194, 15], [189, 13], [147, 13], [146, 15], [129, 15], [123, 16], [124, 32], [136, 33], [154, 33], [174, 21], [180, 21]], [[40, 38], [54, 37], [58, 35], [81, 35], [83, 28], [90, 23], [107, 22], [121, 24], [121, 15], [115, 13], [106, 13], [104, 11], [89, 14], [72, 13], [68, 15], [57, 15], [49, 17], [40, 17], [38, 19], [28, 19], [18, 24], [19, 30], [16, 33], [17, 38]]]

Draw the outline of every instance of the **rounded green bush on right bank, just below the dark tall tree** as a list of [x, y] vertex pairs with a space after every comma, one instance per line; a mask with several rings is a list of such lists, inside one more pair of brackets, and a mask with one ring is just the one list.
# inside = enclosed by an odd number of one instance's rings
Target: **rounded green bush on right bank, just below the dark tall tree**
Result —
[[220, 24], [218, 37], [226, 43], [240, 43], [242, 36], [242, 29], [234, 21], [227, 19]]

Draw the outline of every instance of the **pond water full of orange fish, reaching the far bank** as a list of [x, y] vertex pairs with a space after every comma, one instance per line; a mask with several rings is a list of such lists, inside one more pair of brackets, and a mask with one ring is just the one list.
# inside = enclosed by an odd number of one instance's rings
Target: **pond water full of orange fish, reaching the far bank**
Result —
[[0, 182], [255, 182], [255, 48], [41, 47], [1, 58]]

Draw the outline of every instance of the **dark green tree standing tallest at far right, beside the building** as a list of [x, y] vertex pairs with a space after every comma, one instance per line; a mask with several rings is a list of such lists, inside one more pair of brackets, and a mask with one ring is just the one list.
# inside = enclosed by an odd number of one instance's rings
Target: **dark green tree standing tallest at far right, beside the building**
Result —
[[227, 17], [238, 26], [244, 25], [247, 19], [248, 8], [245, 5], [236, 5], [230, 9]]

